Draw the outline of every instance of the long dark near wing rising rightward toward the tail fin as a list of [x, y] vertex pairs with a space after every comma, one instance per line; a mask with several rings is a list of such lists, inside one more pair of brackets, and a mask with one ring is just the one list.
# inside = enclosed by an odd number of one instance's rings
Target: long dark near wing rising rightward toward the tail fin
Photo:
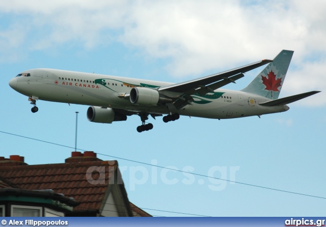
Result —
[[207, 93], [214, 92], [214, 90], [221, 88], [230, 82], [235, 83], [235, 80], [244, 76], [242, 73], [248, 72], [270, 62], [273, 62], [273, 60], [262, 60], [260, 62], [252, 63], [221, 73], [160, 87], [158, 91], [161, 94], [175, 98], [173, 104], [177, 109], [180, 109], [183, 106], [192, 104], [194, 100], [191, 95], [205, 95]]

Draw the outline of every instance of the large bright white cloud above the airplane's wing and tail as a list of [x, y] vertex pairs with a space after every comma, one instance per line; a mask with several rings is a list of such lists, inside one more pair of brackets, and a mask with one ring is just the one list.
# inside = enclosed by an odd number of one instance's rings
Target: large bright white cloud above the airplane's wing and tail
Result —
[[123, 41], [155, 57], [172, 58], [169, 68], [179, 76], [272, 58], [283, 48], [303, 50], [310, 34], [302, 14], [279, 1], [144, 5], [133, 7], [135, 25], [126, 29]]

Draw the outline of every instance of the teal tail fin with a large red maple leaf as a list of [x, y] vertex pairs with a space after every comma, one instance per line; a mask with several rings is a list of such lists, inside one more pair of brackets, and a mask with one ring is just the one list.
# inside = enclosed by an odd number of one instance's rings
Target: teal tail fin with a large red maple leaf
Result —
[[287, 69], [289, 68], [292, 50], [282, 50], [257, 77], [241, 91], [260, 95], [269, 99], [278, 99]]

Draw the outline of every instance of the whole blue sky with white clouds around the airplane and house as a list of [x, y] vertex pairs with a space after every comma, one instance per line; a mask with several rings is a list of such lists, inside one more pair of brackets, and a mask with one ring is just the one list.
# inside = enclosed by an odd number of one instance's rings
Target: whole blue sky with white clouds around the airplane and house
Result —
[[[294, 0], [1, 1], [0, 156], [63, 163], [78, 111], [77, 149], [118, 160], [129, 201], [151, 215], [324, 216], [325, 11], [324, 1]], [[157, 117], [148, 121], [153, 130], [138, 133], [138, 116], [92, 123], [83, 105], [38, 101], [32, 113], [8, 84], [33, 68], [176, 83], [282, 49], [294, 55], [280, 98], [321, 93], [260, 119]], [[261, 70], [225, 88], [241, 90]]]

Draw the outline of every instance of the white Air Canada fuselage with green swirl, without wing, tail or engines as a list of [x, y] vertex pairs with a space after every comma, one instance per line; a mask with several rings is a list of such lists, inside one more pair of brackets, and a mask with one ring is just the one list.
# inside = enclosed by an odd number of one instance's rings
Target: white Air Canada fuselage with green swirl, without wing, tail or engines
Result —
[[282, 112], [287, 105], [261, 106], [270, 99], [241, 91], [218, 89], [204, 96], [192, 95], [192, 105], [177, 110], [173, 105], [139, 105], [119, 95], [128, 94], [133, 87], [158, 88], [172, 83], [93, 73], [55, 69], [27, 70], [30, 76], [18, 76], [9, 84], [17, 92], [38, 97], [40, 100], [111, 107], [135, 112], [168, 114], [177, 112], [184, 116], [212, 119], [230, 119], [260, 116]]

